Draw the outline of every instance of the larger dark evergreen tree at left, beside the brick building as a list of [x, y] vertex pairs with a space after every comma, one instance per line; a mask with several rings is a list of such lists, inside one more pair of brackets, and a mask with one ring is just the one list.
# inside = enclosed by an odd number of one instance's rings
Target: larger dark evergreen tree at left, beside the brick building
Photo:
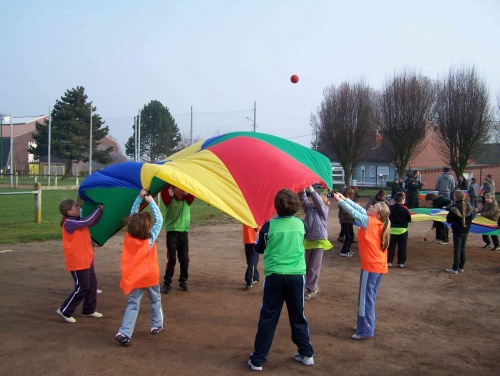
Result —
[[[56, 101], [52, 110], [51, 122], [51, 155], [67, 160], [65, 176], [69, 176], [73, 163], [89, 161], [89, 139], [90, 139], [90, 109], [91, 102], [87, 102], [87, 95], [82, 86], [67, 90], [60, 100]], [[111, 162], [110, 153], [112, 147], [98, 150], [98, 140], [107, 136], [108, 127], [102, 127], [104, 121], [95, 113], [92, 107], [92, 160], [107, 164]], [[49, 121], [35, 124], [36, 133], [33, 139], [36, 146], [29, 147], [28, 153], [34, 154], [36, 158], [48, 153]]]

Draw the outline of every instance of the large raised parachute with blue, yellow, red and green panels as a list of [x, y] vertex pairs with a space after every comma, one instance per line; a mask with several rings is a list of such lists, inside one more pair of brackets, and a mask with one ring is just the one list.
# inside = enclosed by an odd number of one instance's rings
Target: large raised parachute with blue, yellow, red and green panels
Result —
[[173, 184], [252, 227], [274, 213], [282, 188], [298, 192], [313, 183], [332, 188], [324, 155], [276, 136], [234, 132], [199, 142], [160, 163], [124, 162], [96, 171], [83, 181], [83, 214], [104, 204], [103, 218], [91, 227], [103, 245], [123, 224], [139, 191], [158, 194]]

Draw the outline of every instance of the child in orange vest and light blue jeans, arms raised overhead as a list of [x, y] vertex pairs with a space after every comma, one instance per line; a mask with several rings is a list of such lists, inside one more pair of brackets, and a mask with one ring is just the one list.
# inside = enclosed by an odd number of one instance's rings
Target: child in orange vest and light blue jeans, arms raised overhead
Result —
[[[139, 213], [142, 199], [149, 203], [153, 212], [154, 225], [149, 213]], [[160, 297], [160, 269], [155, 240], [161, 230], [163, 218], [153, 197], [141, 189], [130, 211], [128, 228], [122, 247], [122, 279], [120, 287], [128, 295], [128, 304], [123, 315], [122, 326], [115, 339], [122, 346], [131, 345], [130, 338], [134, 331], [139, 306], [144, 291], [148, 292], [151, 307], [151, 334], [158, 334], [163, 329], [163, 310]]]

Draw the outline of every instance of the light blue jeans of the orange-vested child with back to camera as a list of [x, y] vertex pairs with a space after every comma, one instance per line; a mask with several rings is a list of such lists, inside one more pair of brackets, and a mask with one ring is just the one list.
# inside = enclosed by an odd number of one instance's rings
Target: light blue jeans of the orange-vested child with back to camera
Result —
[[151, 308], [151, 327], [157, 328], [163, 325], [163, 309], [161, 306], [160, 285], [146, 287], [143, 289], [133, 289], [128, 294], [128, 304], [123, 315], [122, 326], [118, 330], [128, 338], [132, 338], [135, 322], [139, 314], [141, 299], [144, 291], [148, 292], [149, 304]]

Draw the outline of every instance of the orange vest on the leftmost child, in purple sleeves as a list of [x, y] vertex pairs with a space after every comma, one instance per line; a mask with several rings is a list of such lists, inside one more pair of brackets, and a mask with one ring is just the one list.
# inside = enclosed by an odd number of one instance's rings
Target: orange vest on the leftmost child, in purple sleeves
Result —
[[94, 260], [94, 248], [90, 240], [88, 227], [80, 228], [72, 234], [62, 227], [63, 251], [66, 270], [84, 270], [90, 268]]

